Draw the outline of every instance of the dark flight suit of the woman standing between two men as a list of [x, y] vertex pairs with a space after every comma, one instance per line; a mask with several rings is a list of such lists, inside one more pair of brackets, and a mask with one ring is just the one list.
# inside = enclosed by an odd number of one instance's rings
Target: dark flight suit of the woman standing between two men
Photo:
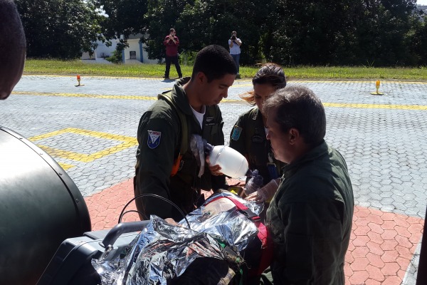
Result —
[[280, 177], [285, 164], [274, 158], [270, 140], [265, 138], [263, 117], [257, 107], [238, 118], [231, 130], [230, 147], [246, 157], [251, 170], [258, 170], [264, 185]]

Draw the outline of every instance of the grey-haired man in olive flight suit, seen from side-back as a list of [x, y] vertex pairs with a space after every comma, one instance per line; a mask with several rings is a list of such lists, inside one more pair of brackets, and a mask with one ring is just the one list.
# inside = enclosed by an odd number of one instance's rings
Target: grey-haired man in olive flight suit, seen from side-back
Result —
[[274, 155], [288, 164], [267, 210], [274, 257], [265, 276], [342, 285], [354, 197], [344, 157], [324, 140], [325, 109], [312, 90], [291, 86], [273, 93], [263, 112]]

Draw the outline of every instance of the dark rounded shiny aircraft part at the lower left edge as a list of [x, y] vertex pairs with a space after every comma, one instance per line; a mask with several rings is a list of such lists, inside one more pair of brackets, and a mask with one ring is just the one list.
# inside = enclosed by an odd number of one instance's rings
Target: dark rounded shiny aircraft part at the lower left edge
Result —
[[88, 207], [67, 173], [0, 126], [0, 284], [36, 284], [61, 242], [90, 229]]

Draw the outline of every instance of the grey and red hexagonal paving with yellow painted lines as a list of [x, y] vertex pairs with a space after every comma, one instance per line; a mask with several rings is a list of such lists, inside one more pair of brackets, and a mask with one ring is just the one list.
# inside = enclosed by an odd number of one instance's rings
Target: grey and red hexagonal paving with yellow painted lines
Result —
[[[23, 76], [0, 102], [0, 125], [54, 157], [85, 197], [93, 229], [109, 228], [133, 197], [139, 118], [174, 81], [82, 76], [77, 84], [74, 76]], [[349, 167], [357, 206], [346, 284], [415, 284], [427, 205], [427, 82], [381, 81], [384, 95], [370, 94], [374, 81], [293, 84], [320, 97], [325, 139]], [[226, 143], [251, 108], [238, 95], [251, 87], [236, 81], [220, 104]]]

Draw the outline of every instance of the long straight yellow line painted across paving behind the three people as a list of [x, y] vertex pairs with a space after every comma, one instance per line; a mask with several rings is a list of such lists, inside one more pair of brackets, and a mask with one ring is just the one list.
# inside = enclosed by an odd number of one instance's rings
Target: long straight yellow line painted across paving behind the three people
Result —
[[[78, 98], [102, 98], [102, 99], [125, 99], [125, 100], [157, 100], [157, 96], [138, 96], [138, 95], [95, 95], [80, 93], [43, 93], [14, 91], [14, 94], [21, 95], [42, 95], [42, 96], [64, 96]], [[222, 103], [244, 103], [241, 99], [223, 99]], [[386, 104], [358, 104], [358, 103], [323, 103], [325, 107], [333, 108], [366, 108], [366, 109], [396, 109], [396, 110], [427, 110], [426, 105], [386, 105]]]

